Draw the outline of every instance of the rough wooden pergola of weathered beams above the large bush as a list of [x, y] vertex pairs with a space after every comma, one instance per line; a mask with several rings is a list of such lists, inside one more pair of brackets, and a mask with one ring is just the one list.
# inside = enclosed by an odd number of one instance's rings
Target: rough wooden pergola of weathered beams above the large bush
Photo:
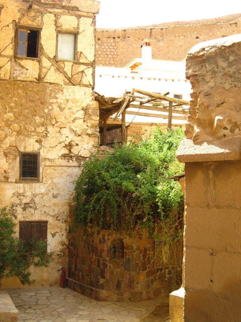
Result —
[[[115, 122], [107, 124], [108, 119], [116, 121], [121, 116], [121, 141], [126, 142], [126, 114], [168, 119], [167, 130], [172, 128], [172, 120], [186, 121], [190, 102], [167, 96], [167, 93], [154, 93], [133, 89], [125, 92], [121, 98], [104, 97], [95, 92], [99, 103], [100, 121], [103, 122], [103, 145], [106, 145], [107, 127], [115, 126]], [[134, 108], [136, 110], [129, 110]], [[144, 111], [141, 111], [144, 110]], [[156, 111], [150, 113], [146, 110]], [[115, 114], [114, 117], [112, 117]]]

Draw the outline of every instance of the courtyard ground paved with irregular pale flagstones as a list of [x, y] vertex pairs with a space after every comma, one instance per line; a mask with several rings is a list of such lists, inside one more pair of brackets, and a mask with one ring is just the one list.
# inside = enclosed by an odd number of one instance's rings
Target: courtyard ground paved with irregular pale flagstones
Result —
[[[7, 289], [24, 322], [164, 322], [168, 298], [132, 302], [97, 302], [59, 287]], [[152, 312], [156, 309], [157, 311]], [[164, 310], [162, 312], [162, 310]], [[160, 313], [162, 312], [162, 313]], [[157, 319], [156, 319], [157, 318]]]

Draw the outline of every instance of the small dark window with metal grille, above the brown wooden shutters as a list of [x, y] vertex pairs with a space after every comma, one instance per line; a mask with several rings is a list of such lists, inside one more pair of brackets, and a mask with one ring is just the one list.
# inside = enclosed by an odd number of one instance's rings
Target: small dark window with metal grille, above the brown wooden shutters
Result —
[[39, 180], [39, 152], [20, 153], [20, 180]]

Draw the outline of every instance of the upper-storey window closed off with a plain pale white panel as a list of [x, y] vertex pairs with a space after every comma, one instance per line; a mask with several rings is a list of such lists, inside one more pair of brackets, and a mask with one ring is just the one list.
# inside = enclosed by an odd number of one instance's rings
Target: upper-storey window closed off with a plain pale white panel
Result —
[[76, 33], [58, 32], [57, 59], [75, 61]]

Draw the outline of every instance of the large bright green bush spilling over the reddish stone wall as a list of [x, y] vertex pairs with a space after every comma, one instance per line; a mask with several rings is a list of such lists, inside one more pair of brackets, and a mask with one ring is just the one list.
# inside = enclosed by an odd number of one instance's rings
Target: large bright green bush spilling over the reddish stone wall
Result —
[[178, 226], [180, 184], [162, 179], [183, 172], [175, 157], [182, 138], [181, 130], [163, 133], [157, 127], [150, 139], [115, 147], [104, 160], [97, 155], [87, 160], [76, 180], [75, 224], [129, 232], [142, 226], [154, 232], [156, 224], [175, 218]]

